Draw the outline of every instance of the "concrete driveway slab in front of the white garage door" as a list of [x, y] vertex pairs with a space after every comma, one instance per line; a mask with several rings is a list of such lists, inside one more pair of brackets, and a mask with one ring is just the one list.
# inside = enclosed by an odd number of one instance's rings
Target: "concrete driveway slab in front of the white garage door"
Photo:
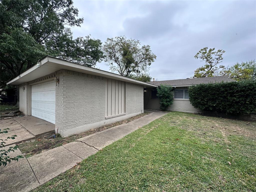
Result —
[[6, 146], [27, 141], [35, 137], [40, 137], [45, 133], [55, 132], [55, 125], [45, 120], [33, 117], [23, 116], [0, 121], [1, 130], [9, 128], [8, 133], [0, 134], [0, 139], [6, 139], [9, 136], [17, 135], [14, 140], [6, 141]]

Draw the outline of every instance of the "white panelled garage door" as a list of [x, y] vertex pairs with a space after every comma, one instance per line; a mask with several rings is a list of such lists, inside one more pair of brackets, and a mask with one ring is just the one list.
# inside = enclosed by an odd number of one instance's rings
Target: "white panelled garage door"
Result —
[[54, 81], [32, 85], [32, 116], [55, 124], [55, 87]]

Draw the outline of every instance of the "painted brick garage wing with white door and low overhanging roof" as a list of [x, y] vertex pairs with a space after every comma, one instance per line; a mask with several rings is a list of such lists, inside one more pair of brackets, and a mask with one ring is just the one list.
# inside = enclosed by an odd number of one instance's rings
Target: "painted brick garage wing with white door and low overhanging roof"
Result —
[[157, 85], [46, 56], [7, 83], [19, 108], [69, 136], [144, 112], [143, 89]]

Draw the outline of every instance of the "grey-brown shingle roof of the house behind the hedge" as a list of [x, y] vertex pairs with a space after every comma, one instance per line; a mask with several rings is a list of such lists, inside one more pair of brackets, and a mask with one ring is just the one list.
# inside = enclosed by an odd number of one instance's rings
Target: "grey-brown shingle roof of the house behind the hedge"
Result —
[[171, 86], [181, 86], [181, 85], [196, 85], [200, 83], [218, 83], [218, 82], [230, 82], [234, 81], [226, 76], [218, 76], [218, 77], [202, 77], [202, 78], [193, 78], [193, 79], [175, 79], [175, 80], [166, 80], [166, 81], [152, 81], [148, 83], [152, 83], [154, 85], [167, 84]]

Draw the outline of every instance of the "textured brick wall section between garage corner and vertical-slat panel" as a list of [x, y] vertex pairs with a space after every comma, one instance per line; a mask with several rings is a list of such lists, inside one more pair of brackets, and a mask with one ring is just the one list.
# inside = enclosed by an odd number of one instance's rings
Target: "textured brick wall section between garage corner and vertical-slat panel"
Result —
[[105, 79], [63, 70], [56, 89], [56, 128], [68, 129], [105, 119]]

